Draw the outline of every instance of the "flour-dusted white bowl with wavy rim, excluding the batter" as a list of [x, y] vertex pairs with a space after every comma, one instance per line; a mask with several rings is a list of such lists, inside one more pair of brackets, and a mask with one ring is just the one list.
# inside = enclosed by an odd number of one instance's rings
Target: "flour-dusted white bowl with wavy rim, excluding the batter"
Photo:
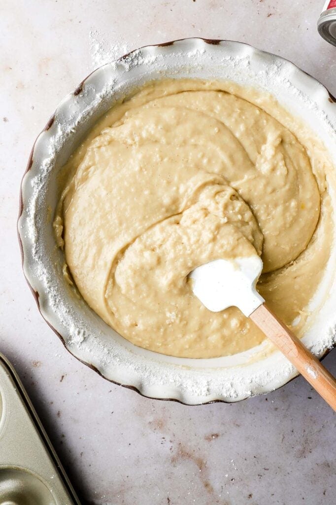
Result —
[[[120, 96], [162, 77], [228, 79], [272, 93], [323, 139], [336, 166], [335, 100], [322, 84], [289, 61], [231, 41], [193, 38], [143, 47], [89, 75], [63, 100], [37, 138], [21, 188], [18, 230], [23, 269], [46, 322], [76, 358], [106, 379], [146, 396], [188, 404], [238, 401], [282, 386], [295, 377], [295, 369], [279, 352], [256, 362], [251, 362], [256, 349], [192, 360], [136, 347], [108, 327], [84, 300], [71, 297], [62, 276], [64, 258], [52, 230], [61, 167]], [[335, 201], [333, 188], [329, 189]], [[334, 343], [335, 265], [333, 250], [317, 298], [327, 289], [329, 296], [303, 339], [319, 357]]]

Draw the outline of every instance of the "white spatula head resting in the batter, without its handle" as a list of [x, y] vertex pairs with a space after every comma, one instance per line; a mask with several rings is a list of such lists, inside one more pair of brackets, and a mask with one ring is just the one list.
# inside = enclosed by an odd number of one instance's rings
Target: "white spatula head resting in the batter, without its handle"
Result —
[[238, 307], [249, 317], [265, 301], [256, 290], [262, 261], [255, 256], [235, 260], [214, 260], [190, 274], [192, 290], [212, 312]]

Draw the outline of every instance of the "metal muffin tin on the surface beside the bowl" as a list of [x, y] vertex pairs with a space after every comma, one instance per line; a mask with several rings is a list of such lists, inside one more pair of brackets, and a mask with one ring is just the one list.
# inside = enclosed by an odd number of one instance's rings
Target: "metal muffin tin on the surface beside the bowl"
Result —
[[0, 505], [80, 502], [11, 364], [0, 354]]

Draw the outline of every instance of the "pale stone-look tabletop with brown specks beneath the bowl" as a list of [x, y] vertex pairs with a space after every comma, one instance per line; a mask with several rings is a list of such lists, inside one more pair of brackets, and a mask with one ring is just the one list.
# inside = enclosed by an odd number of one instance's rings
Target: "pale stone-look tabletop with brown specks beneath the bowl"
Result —
[[[298, 378], [235, 405], [186, 407], [108, 383], [44, 323], [21, 271], [19, 185], [58, 102], [104, 59], [188, 36], [248, 42], [336, 94], [323, 0], [2, 0], [0, 350], [12, 361], [83, 503], [329, 505], [335, 416]], [[336, 373], [336, 351], [325, 365]], [[0, 447], [1, 450], [1, 447]]]

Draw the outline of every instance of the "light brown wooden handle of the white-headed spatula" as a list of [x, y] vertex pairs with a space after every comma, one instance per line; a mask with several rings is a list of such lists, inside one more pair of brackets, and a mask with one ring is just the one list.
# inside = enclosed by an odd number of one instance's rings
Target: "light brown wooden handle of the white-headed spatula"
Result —
[[336, 411], [336, 379], [303, 345], [301, 340], [264, 304], [252, 312], [250, 318]]

